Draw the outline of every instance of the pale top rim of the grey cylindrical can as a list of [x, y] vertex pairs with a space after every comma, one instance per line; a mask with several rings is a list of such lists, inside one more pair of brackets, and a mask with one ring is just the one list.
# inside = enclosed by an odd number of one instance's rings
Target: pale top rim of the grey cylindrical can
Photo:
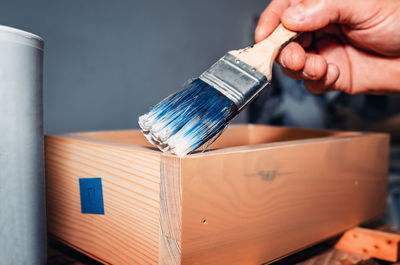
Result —
[[0, 25], [0, 40], [9, 40], [43, 49], [44, 41], [38, 35], [33, 33]]

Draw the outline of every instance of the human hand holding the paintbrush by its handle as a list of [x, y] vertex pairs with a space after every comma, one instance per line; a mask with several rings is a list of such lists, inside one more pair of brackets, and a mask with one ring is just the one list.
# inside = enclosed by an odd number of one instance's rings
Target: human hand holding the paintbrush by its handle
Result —
[[273, 0], [260, 17], [256, 42], [280, 21], [304, 33], [277, 61], [311, 92], [400, 92], [399, 0]]

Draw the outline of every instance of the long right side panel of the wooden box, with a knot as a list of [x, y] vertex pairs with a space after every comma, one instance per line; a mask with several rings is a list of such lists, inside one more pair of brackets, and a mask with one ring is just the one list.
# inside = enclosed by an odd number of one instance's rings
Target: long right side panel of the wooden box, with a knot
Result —
[[182, 160], [182, 264], [262, 264], [384, 213], [389, 141], [364, 135]]

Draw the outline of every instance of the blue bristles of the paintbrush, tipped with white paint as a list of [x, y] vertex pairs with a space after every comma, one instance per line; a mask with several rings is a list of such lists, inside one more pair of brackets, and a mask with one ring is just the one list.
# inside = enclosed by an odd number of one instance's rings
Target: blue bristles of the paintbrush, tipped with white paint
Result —
[[185, 156], [216, 136], [237, 114], [230, 99], [195, 79], [140, 116], [139, 125], [161, 151]]

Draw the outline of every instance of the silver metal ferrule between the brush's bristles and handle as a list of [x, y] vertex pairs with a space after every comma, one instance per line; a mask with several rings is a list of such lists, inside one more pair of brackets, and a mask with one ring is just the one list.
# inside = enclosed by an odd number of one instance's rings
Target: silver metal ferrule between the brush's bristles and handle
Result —
[[265, 75], [229, 53], [200, 75], [200, 79], [232, 100], [239, 111], [268, 84]]

